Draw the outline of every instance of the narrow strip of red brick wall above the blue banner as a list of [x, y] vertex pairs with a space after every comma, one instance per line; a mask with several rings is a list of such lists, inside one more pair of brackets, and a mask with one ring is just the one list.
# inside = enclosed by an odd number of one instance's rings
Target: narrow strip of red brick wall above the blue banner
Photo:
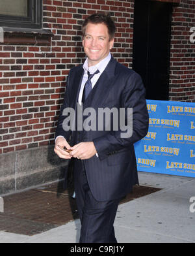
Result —
[[181, 0], [172, 15], [171, 101], [195, 102], [195, 43], [190, 42], [190, 27], [195, 27], [195, 1]]

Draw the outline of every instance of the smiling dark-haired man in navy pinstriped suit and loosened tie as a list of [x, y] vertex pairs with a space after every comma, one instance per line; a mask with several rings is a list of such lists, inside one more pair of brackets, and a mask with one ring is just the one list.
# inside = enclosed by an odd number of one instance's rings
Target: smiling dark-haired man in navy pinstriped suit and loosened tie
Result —
[[[74, 67], [69, 73], [56, 131], [55, 153], [63, 159], [74, 160], [75, 195], [81, 219], [80, 242], [116, 242], [113, 223], [118, 204], [132, 186], [138, 184], [133, 144], [148, 132], [142, 80], [110, 55], [114, 32], [115, 25], [109, 16], [92, 14], [86, 18], [83, 47], [87, 59], [84, 65]], [[110, 118], [109, 131], [105, 121], [104, 129], [98, 129], [98, 116], [97, 129], [79, 131], [76, 123], [75, 131], [68, 131], [63, 110], [77, 110], [77, 103], [82, 104], [83, 112], [88, 107], [96, 113], [99, 108], [123, 108], [126, 123], [127, 108], [133, 108], [132, 135], [123, 138], [121, 129], [113, 129], [116, 122], [113, 118]], [[79, 115], [78, 110], [76, 112]]]

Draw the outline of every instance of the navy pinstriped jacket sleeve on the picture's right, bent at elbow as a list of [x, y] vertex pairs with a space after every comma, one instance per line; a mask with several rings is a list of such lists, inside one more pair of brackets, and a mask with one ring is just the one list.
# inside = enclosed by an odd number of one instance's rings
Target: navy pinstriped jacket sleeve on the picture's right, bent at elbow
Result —
[[118, 152], [126, 147], [132, 146], [135, 142], [142, 139], [148, 133], [148, 110], [145, 99], [145, 88], [142, 78], [133, 72], [127, 78], [121, 97], [121, 106], [125, 108], [125, 123], [127, 121], [127, 108], [133, 108], [133, 118], [129, 131], [131, 136], [122, 137], [123, 131], [111, 131], [106, 135], [94, 138], [94, 146], [98, 152], [99, 159], [102, 160], [111, 152]]

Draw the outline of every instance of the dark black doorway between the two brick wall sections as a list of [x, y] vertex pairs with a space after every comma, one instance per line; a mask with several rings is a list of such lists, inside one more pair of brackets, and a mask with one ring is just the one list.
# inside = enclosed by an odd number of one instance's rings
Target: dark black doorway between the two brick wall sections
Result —
[[142, 76], [146, 99], [168, 100], [172, 4], [135, 1], [133, 69]]

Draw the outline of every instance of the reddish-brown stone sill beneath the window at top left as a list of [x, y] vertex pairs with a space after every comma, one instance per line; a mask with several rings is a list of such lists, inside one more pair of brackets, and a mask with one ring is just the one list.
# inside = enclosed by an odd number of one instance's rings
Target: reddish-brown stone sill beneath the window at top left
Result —
[[3, 42], [0, 44], [50, 46], [51, 37], [53, 37], [53, 33], [45, 29], [3, 27]]

